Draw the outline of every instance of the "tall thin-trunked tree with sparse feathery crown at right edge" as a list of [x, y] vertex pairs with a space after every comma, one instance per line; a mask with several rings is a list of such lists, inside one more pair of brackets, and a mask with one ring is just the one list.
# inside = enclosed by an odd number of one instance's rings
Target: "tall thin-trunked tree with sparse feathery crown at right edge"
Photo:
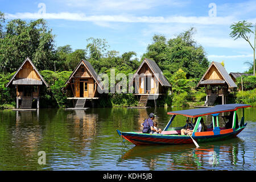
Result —
[[[254, 32], [251, 30], [251, 28], [254, 27]], [[230, 26], [230, 29], [232, 30], [230, 32], [230, 36], [234, 38], [234, 40], [238, 38], [245, 39], [253, 48], [253, 75], [255, 75], [255, 40], [256, 40], [256, 23], [255, 26], [253, 26], [253, 23], [246, 22], [246, 20], [243, 20], [242, 22], [239, 21], [237, 23], [233, 23]], [[254, 34], [254, 46], [250, 42], [251, 34]]]

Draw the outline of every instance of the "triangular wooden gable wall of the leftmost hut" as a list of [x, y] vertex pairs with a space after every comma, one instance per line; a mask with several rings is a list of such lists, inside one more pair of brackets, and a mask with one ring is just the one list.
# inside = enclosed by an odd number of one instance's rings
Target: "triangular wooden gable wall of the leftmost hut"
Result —
[[15, 78], [33, 78], [35, 80], [40, 80], [38, 73], [33, 69], [32, 65], [26, 61], [22, 69], [17, 73]]

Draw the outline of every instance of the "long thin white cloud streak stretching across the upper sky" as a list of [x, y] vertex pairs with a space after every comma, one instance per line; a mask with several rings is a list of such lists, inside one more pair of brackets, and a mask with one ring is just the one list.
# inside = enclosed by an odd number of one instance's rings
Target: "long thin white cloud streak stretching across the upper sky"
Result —
[[125, 23], [194, 23], [194, 24], [230, 24], [232, 16], [209, 17], [209, 16], [133, 16], [133, 15], [85, 15], [83, 13], [6, 13], [7, 19], [64, 19], [88, 22], [125, 22]]

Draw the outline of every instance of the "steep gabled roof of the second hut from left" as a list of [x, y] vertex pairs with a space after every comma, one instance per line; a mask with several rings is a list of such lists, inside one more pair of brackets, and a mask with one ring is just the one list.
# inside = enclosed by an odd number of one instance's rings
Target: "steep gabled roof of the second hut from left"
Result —
[[71, 80], [71, 78], [75, 75], [77, 69], [79, 69], [80, 65], [84, 64], [90, 75], [92, 75], [93, 79], [97, 82], [97, 84], [100, 86], [100, 88], [103, 90], [103, 85], [101, 84], [101, 81], [98, 80], [98, 74], [96, 73], [95, 69], [92, 67], [92, 65], [86, 61], [86, 60], [81, 60], [79, 64], [76, 65], [76, 68], [74, 69], [73, 73], [71, 76], [68, 78], [68, 80], [65, 82], [64, 85], [68, 84], [68, 82]]

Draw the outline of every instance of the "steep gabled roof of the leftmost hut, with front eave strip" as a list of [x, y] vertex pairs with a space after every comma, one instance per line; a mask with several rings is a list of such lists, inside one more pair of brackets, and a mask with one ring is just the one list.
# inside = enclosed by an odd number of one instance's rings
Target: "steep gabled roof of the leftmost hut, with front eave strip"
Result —
[[[14, 78], [16, 77], [16, 75], [19, 73], [20, 69], [22, 69], [23, 65], [26, 63], [26, 62], [29, 62], [32, 67], [34, 68], [35, 72], [39, 75], [40, 79], [44, 82], [44, 84], [49, 87], [49, 85], [47, 84], [46, 80], [44, 80], [44, 78], [42, 77], [42, 75], [38, 72], [38, 69], [36, 69], [35, 65], [32, 63], [32, 61], [30, 60], [29, 57], [27, 57], [23, 63], [20, 65], [19, 69], [16, 71], [16, 73], [14, 74], [14, 76], [11, 78], [11, 80], [8, 82], [8, 84], [6, 85], [6, 87], [10, 86], [11, 82], [14, 81]], [[20, 80], [15, 80], [14, 81], [15, 84], [24, 84], [24, 85], [27, 85], [28, 82], [30, 83], [30, 85], [41, 85], [38, 83], [38, 80], [35, 80], [35, 79], [31, 79], [31, 78], [23, 78], [23, 79], [20, 79]]]

